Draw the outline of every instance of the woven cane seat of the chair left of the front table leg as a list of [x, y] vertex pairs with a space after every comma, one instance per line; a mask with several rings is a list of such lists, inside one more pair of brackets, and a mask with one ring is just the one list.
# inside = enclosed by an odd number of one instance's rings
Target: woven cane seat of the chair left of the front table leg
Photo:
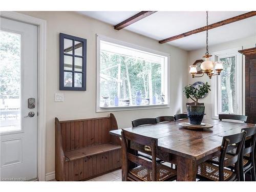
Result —
[[[177, 172], [175, 169], [157, 163], [157, 181], [175, 180]], [[152, 181], [152, 170], [144, 166], [137, 166], [129, 170], [129, 174], [141, 181]]]

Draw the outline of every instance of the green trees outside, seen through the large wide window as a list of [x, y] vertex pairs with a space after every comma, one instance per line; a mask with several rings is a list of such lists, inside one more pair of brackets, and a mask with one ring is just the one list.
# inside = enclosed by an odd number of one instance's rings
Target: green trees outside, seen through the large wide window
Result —
[[[101, 96], [109, 96], [111, 102], [117, 95], [119, 81], [119, 99], [132, 98], [133, 104], [135, 104], [137, 91], [141, 92], [142, 98], [149, 98], [151, 91], [153, 95], [161, 94], [160, 63], [103, 50], [100, 53], [100, 58], [100, 93]], [[120, 68], [120, 80], [118, 79], [118, 68]], [[150, 79], [152, 80], [151, 88]], [[131, 92], [131, 97], [129, 92]], [[113, 103], [110, 104], [113, 105]]]

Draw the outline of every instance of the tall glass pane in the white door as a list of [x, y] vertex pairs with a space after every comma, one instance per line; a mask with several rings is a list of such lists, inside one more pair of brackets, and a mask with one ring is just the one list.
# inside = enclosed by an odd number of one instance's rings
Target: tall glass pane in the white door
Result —
[[20, 130], [20, 34], [0, 31], [0, 132]]

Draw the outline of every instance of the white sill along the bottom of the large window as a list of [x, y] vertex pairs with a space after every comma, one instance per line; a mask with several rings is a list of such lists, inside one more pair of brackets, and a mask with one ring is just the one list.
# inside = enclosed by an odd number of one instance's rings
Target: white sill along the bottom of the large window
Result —
[[169, 108], [169, 104], [150, 104], [150, 105], [130, 105], [130, 106], [100, 106], [96, 112], [111, 112], [111, 111], [130, 111], [130, 110], [142, 110], [142, 109], [160, 109]]

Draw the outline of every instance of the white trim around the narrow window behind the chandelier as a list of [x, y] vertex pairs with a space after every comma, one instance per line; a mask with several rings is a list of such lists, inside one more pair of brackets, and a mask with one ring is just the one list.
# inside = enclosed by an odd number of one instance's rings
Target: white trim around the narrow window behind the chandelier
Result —
[[[236, 57], [236, 79], [237, 79], [237, 101], [238, 101], [238, 114], [243, 113], [243, 57], [242, 54], [238, 52], [238, 50], [242, 50], [242, 47], [236, 47], [232, 49], [226, 49], [222, 51], [217, 51], [212, 53], [212, 61], [217, 61], [218, 57]], [[220, 91], [218, 91], [218, 82], [220, 78], [219, 76], [212, 77], [212, 119], [218, 119], [218, 109], [220, 108], [220, 103], [218, 103], [218, 97], [220, 97]]]

